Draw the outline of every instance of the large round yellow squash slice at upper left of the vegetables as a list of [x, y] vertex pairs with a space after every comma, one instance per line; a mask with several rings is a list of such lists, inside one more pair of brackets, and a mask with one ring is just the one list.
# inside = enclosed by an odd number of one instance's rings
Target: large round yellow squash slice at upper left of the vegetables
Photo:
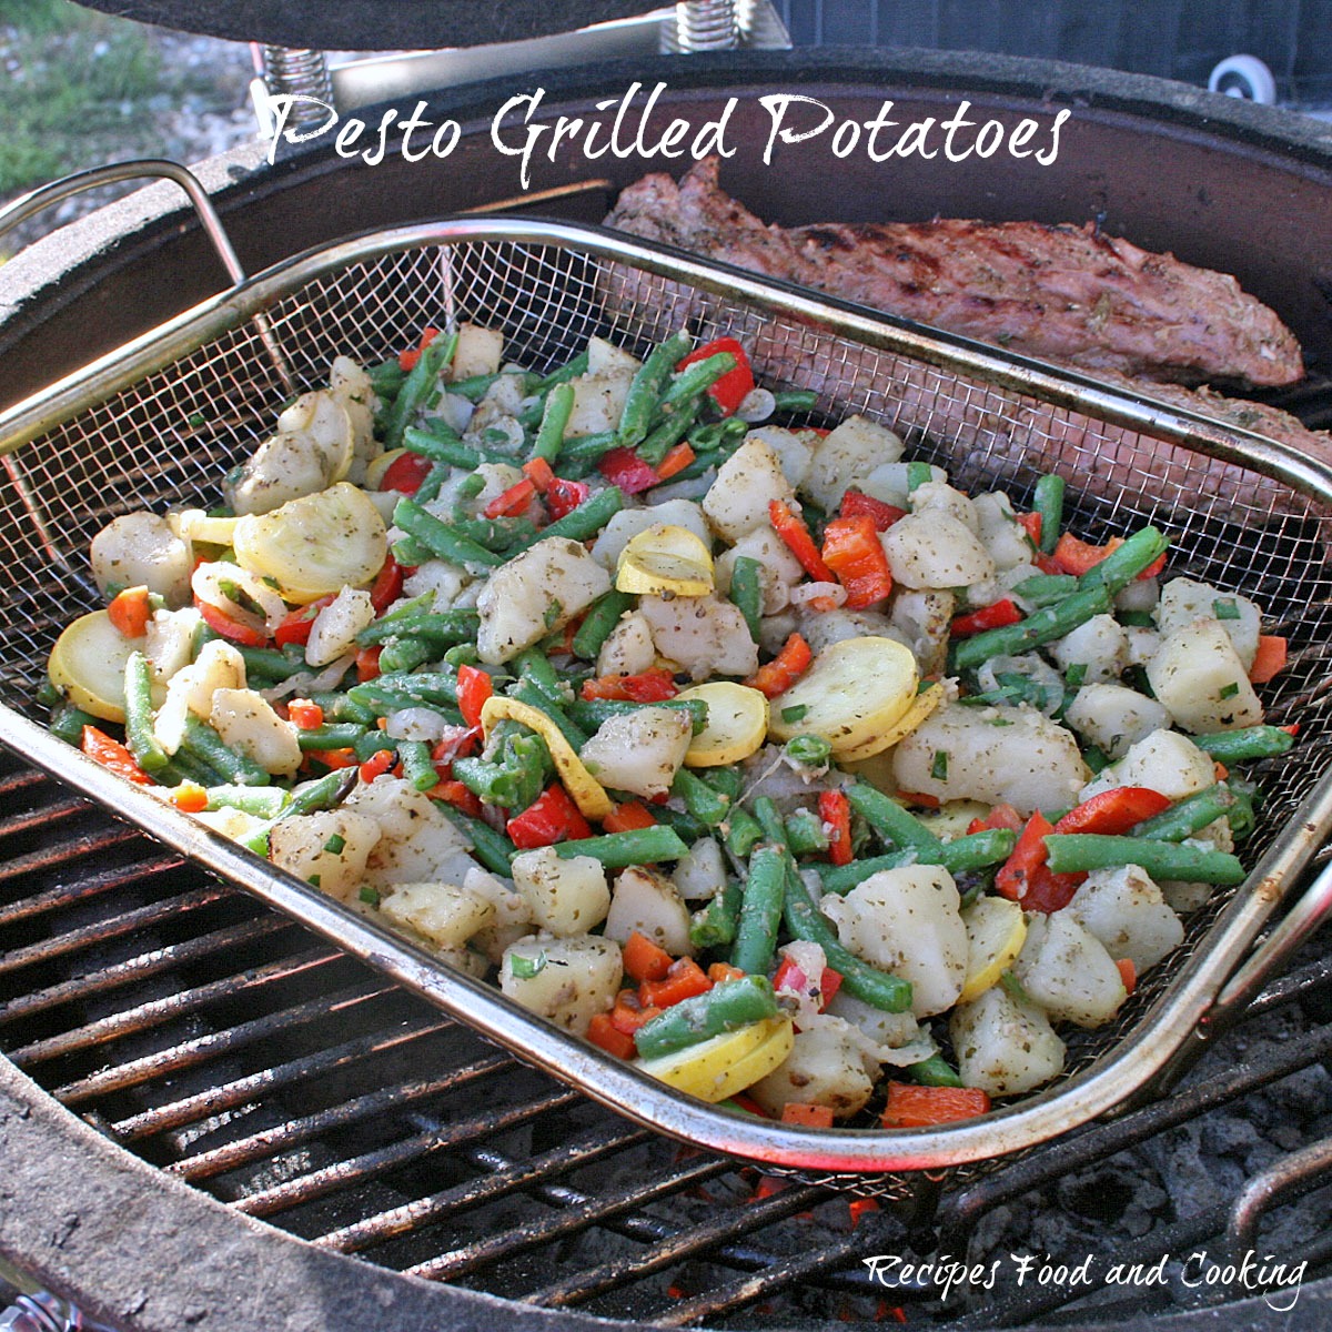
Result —
[[246, 514], [232, 549], [242, 569], [272, 578], [288, 601], [304, 605], [368, 583], [384, 565], [389, 538], [365, 492], [340, 481], [272, 513]]

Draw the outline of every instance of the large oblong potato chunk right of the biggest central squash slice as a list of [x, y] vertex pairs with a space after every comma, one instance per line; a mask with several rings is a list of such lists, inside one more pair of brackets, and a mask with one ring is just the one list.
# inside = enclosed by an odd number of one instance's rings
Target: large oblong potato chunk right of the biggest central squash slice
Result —
[[1007, 802], [1020, 814], [1067, 809], [1088, 775], [1076, 741], [1048, 717], [1030, 707], [959, 705], [940, 707], [907, 735], [892, 771], [898, 790]]

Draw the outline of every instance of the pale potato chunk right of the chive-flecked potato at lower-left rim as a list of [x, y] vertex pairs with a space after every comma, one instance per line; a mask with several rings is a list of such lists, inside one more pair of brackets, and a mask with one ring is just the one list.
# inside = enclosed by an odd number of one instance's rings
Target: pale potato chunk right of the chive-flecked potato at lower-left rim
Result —
[[374, 887], [394, 883], [462, 883], [476, 862], [468, 839], [429, 797], [397, 777], [364, 782], [348, 797], [345, 809], [373, 818], [384, 831], [365, 867]]

